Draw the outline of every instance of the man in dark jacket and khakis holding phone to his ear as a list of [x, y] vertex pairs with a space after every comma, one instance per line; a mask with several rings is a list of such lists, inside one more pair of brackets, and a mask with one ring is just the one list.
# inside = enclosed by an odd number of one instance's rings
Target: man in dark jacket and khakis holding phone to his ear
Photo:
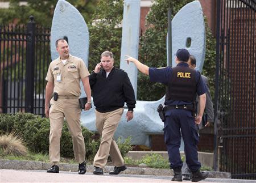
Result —
[[124, 160], [115, 143], [113, 136], [123, 114], [123, 105], [127, 104], [127, 121], [133, 119], [133, 109], [136, 100], [133, 86], [127, 73], [114, 67], [112, 52], [101, 54], [98, 63], [89, 76], [90, 87], [93, 92], [93, 101], [96, 107], [96, 127], [101, 134], [100, 148], [94, 158], [94, 174], [102, 175], [103, 168], [110, 154], [114, 171], [110, 175], [118, 175], [126, 169]]

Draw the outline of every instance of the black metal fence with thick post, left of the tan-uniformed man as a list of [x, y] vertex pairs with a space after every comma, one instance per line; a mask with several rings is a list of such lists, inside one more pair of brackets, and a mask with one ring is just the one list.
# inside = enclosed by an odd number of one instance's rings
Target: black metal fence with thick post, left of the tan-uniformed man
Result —
[[50, 29], [31, 16], [27, 25], [1, 25], [0, 42], [0, 113], [43, 115]]

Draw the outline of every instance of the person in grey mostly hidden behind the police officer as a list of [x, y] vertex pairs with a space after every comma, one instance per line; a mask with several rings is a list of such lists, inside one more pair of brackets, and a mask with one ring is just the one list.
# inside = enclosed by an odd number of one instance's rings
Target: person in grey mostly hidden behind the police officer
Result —
[[[191, 69], [196, 68], [196, 58], [194, 56], [189, 56], [188, 65]], [[199, 129], [203, 129], [203, 127], [208, 127], [211, 124], [213, 124], [214, 118], [213, 103], [212, 97], [210, 96], [208, 78], [204, 75], [201, 75], [201, 78], [204, 80], [206, 86], [205, 94], [207, 98], [205, 103], [204, 116], [202, 118], [201, 124], [199, 125]], [[185, 163], [185, 161], [183, 162], [182, 175], [184, 175], [183, 180], [191, 180], [191, 171], [189, 170], [187, 163]]]

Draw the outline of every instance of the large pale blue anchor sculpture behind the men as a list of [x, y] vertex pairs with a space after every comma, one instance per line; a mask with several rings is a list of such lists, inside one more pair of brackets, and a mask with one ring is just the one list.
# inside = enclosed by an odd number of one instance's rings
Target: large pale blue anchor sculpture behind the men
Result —
[[[128, 66], [124, 60], [125, 54], [138, 58], [140, 3], [141, 1], [139, 0], [124, 1], [120, 59], [120, 67], [128, 73], [135, 95], [137, 95], [138, 71], [133, 64]], [[71, 54], [82, 58], [85, 65], [88, 66], [89, 32], [85, 20], [70, 3], [59, 0], [53, 15], [51, 29], [52, 60], [58, 57], [55, 49], [55, 40], [63, 37], [68, 39]], [[187, 47], [188, 40], [191, 40], [189, 48]], [[174, 62], [176, 50], [186, 47], [197, 58], [197, 69], [201, 71], [205, 56], [205, 27], [203, 11], [199, 1], [188, 3], [172, 19], [172, 66], [176, 65]], [[85, 93], [82, 92], [81, 97], [84, 96]], [[114, 138], [121, 137], [121, 139], [126, 139], [131, 136], [132, 144], [150, 147], [150, 135], [163, 134], [163, 122], [156, 112], [158, 105], [163, 103], [164, 96], [158, 101], [137, 100], [133, 120], [126, 122], [126, 112], [124, 112]], [[81, 113], [81, 124], [89, 130], [97, 131], [94, 109], [95, 107], [93, 106], [91, 110]]]

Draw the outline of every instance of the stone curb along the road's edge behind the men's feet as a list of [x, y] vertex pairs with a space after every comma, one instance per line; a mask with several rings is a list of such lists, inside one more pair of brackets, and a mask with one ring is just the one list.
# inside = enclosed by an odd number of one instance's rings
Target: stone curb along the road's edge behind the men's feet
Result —
[[[51, 163], [44, 163], [42, 161], [20, 161], [20, 160], [5, 160], [0, 159], [1, 169], [26, 169], [26, 170], [47, 170], [51, 167]], [[77, 172], [77, 164], [59, 164], [60, 171]], [[93, 172], [93, 165], [86, 165], [87, 172]], [[105, 166], [104, 173], [109, 173], [114, 169], [114, 166]], [[171, 169], [158, 169], [158, 168], [140, 168], [140, 167], [127, 167], [126, 171], [122, 174], [129, 175], [151, 175], [151, 176], [174, 176]], [[209, 172], [209, 178], [231, 178], [228, 172]]]

